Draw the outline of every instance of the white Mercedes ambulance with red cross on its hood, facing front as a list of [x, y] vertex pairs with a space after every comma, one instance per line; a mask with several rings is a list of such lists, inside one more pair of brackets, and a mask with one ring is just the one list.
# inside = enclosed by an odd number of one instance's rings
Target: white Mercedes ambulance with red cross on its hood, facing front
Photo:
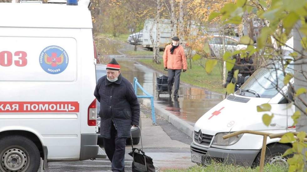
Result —
[[[273, 62], [271, 63], [268, 68], [273, 67]], [[278, 64], [275, 65], [278, 67]], [[293, 65], [288, 65], [286, 70], [293, 74]], [[294, 105], [288, 106], [289, 103], [283, 96], [288, 93], [292, 100], [293, 94], [289, 94], [291, 89], [284, 86], [283, 80], [281, 70], [258, 69], [241, 86], [241, 90], [229, 95], [197, 120], [191, 143], [192, 162], [208, 164], [214, 159], [244, 166], [259, 165], [262, 135], [241, 134], [229, 139], [223, 139], [222, 136], [239, 130], [268, 133], [295, 131], [291, 118]], [[275, 89], [276, 84], [282, 88], [283, 94]], [[262, 121], [263, 114], [268, 112], [257, 112], [256, 108], [264, 103], [271, 105], [271, 112], [274, 114], [269, 126]], [[265, 164], [286, 162], [287, 157], [281, 155], [291, 145], [278, 143], [279, 140], [268, 138]]]

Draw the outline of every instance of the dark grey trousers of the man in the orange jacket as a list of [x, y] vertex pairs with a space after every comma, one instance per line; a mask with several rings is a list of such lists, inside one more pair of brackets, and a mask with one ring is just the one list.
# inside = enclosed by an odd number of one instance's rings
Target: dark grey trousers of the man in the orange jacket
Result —
[[[174, 82], [174, 96], [178, 95], [179, 90], [179, 84], [180, 84], [180, 73], [181, 69], [168, 69], [168, 89], [169, 89], [169, 95], [172, 94], [172, 87]], [[174, 81], [175, 80], [175, 81]]]

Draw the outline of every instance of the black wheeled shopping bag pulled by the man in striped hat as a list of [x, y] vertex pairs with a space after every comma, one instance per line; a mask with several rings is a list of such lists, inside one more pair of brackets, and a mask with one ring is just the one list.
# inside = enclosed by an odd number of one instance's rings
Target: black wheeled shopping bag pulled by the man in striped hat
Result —
[[[140, 129], [141, 132], [141, 129]], [[129, 153], [130, 156], [133, 157], [132, 161], [132, 172], [155, 172], [155, 168], [153, 166], [153, 159], [149, 156], [145, 155], [143, 151], [143, 143], [142, 143], [142, 135], [141, 137], [141, 145], [142, 149], [133, 147], [133, 140], [131, 135], [131, 147], [132, 151]]]

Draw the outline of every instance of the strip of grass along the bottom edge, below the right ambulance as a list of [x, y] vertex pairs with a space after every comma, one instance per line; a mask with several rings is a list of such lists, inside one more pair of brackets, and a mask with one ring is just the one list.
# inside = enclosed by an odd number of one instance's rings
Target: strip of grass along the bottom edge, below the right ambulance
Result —
[[[208, 166], [193, 166], [189, 169], [164, 170], [164, 172], [259, 172], [259, 167], [247, 168], [236, 165], [225, 165], [212, 163]], [[288, 167], [284, 165], [265, 165], [264, 172], [288, 172]]]

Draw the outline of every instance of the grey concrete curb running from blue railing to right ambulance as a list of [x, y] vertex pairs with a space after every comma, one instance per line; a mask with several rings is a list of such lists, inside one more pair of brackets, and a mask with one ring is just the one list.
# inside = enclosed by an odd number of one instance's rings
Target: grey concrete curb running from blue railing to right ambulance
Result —
[[[149, 99], [139, 99], [139, 102], [145, 106], [150, 107], [150, 100]], [[174, 114], [170, 113], [169, 111], [163, 109], [159, 106], [158, 103], [154, 103], [154, 110], [156, 114], [162, 116], [165, 120], [168, 120], [171, 124], [173, 124], [176, 128], [183, 131], [185, 134], [193, 138], [194, 127], [184, 120], [178, 118]]]

